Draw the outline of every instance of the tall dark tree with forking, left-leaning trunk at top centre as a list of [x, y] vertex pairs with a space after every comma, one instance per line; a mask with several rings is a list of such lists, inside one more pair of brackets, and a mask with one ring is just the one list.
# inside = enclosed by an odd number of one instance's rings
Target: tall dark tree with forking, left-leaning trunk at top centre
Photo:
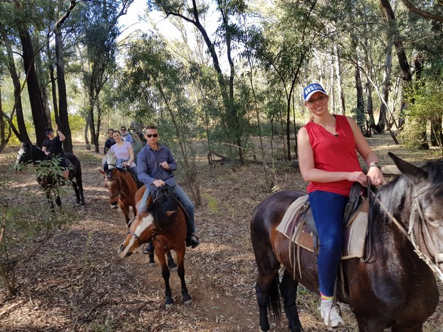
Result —
[[[201, 15], [207, 12], [210, 3], [197, 3], [197, 0], [192, 1], [171, 1], [171, 0], [150, 0], [148, 1], [150, 6], [161, 10], [165, 13], [166, 17], [174, 16], [183, 19], [184, 21], [193, 24], [201, 37], [204, 39], [210, 57], [213, 60], [213, 67], [216, 72], [217, 82], [223, 100], [223, 109], [221, 112], [221, 118], [224, 120], [224, 127], [226, 128], [226, 140], [231, 143], [229, 146], [237, 147], [237, 154], [239, 156], [240, 163], [244, 163], [244, 123], [245, 119], [242, 118], [242, 113], [239, 113], [239, 104], [235, 98], [235, 75], [236, 68], [233, 59], [233, 49], [236, 47], [237, 35], [239, 34], [239, 28], [233, 21], [235, 15], [244, 12], [246, 4], [243, 0], [229, 1], [229, 0], [217, 0], [215, 5], [217, 6], [217, 12], [220, 16], [220, 24], [217, 30], [217, 36], [219, 42], [211, 39], [206, 28], [202, 24]], [[219, 48], [217, 48], [219, 46]], [[228, 75], [224, 75], [219, 55], [219, 52], [225, 52], [226, 61], [228, 63]], [[237, 95], [238, 96], [238, 95]]]

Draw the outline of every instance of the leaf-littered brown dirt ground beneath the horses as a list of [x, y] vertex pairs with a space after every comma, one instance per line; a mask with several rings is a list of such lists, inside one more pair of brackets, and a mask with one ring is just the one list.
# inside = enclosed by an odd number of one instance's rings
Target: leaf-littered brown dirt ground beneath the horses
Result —
[[[380, 145], [379, 149], [388, 148]], [[109, 208], [98, 156], [80, 149], [77, 153], [82, 160], [87, 205], [76, 205], [69, 191], [63, 204], [78, 212], [79, 221], [57, 231], [17, 270], [17, 297], [6, 299], [0, 288], [0, 331], [258, 330], [248, 223], [253, 207], [268, 195], [262, 167], [201, 165], [204, 206], [196, 210], [201, 245], [186, 253], [186, 282], [193, 304], [183, 304], [179, 277], [172, 273], [176, 304], [165, 310], [159, 264], [148, 268], [141, 250], [127, 259], [118, 257], [126, 233], [124, 216]], [[12, 154], [0, 155], [1, 174], [10, 172], [14, 159]], [[299, 172], [290, 165], [275, 169], [275, 178], [280, 190], [305, 188]], [[12, 174], [12, 185], [37, 191], [37, 183], [26, 174]], [[304, 288], [299, 293], [305, 331], [327, 331], [316, 310], [318, 297]], [[349, 308], [342, 309], [346, 325], [338, 331], [357, 331]], [[440, 302], [424, 331], [443, 331], [436, 327], [442, 326], [442, 313]], [[273, 325], [273, 331], [287, 331], [284, 317]]]

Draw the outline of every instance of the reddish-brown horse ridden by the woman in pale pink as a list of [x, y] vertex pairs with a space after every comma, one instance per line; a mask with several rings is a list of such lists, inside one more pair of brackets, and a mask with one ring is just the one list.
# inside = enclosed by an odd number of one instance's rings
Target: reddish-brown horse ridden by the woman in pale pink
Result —
[[[114, 154], [108, 153], [107, 155], [108, 171], [102, 171], [100, 173], [105, 177], [105, 187], [109, 191], [109, 202], [112, 205], [117, 205], [123, 211], [125, 215], [126, 224], [129, 223], [129, 209], [132, 208], [134, 216], [137, 214], [135, 195], [142, 183], [137, 183], [136, 179], [126, 169], [115, 167], [111, 160], [111, 156]], [[115, 160], [115, 156], [114, 156]]]

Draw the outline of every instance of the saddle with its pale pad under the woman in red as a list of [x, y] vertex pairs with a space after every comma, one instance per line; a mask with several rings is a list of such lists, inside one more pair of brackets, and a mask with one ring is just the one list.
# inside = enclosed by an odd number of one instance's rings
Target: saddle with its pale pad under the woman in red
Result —
[[[369, 201], [363, 186], [354, 183], [351, 188], [350, 198], [345, 208], [343, 223], [345, 233], [343, 239], [341, 259], [362, 258], [365, 253], [365, 239], [368, 234], [368, 209]], [[289, 238], [296, 246], [290, 245], [289, 259], [294, 261], [294, 256], [299, 258], [300, 247], [318, 255], [320, 243], [314, 223], [314, 217], [309, 206], [309, 196], [301, 196], [294, 201], [284, 214], [276, 230]], [[297, 259], [299, 262], [300, 259]], [[294, 275], [296, 272], [293, 264]], [[301, 277], [301, 268], [300, 268]]]

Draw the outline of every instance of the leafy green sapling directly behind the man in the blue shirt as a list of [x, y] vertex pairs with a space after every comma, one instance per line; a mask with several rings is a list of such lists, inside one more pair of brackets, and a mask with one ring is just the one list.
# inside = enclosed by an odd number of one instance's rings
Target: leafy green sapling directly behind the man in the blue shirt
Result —
[[159, 37], [143, 36], [131, 46], [121, 80], [121, 98], [132, 104], [135, 118], [157, 123], [162, 137], [179, 149], [185, 176], [197, 205], [200, 186], [192, 139], [201, 136], [197, 105], [190, 98], [188, 68], [172, 56]]

